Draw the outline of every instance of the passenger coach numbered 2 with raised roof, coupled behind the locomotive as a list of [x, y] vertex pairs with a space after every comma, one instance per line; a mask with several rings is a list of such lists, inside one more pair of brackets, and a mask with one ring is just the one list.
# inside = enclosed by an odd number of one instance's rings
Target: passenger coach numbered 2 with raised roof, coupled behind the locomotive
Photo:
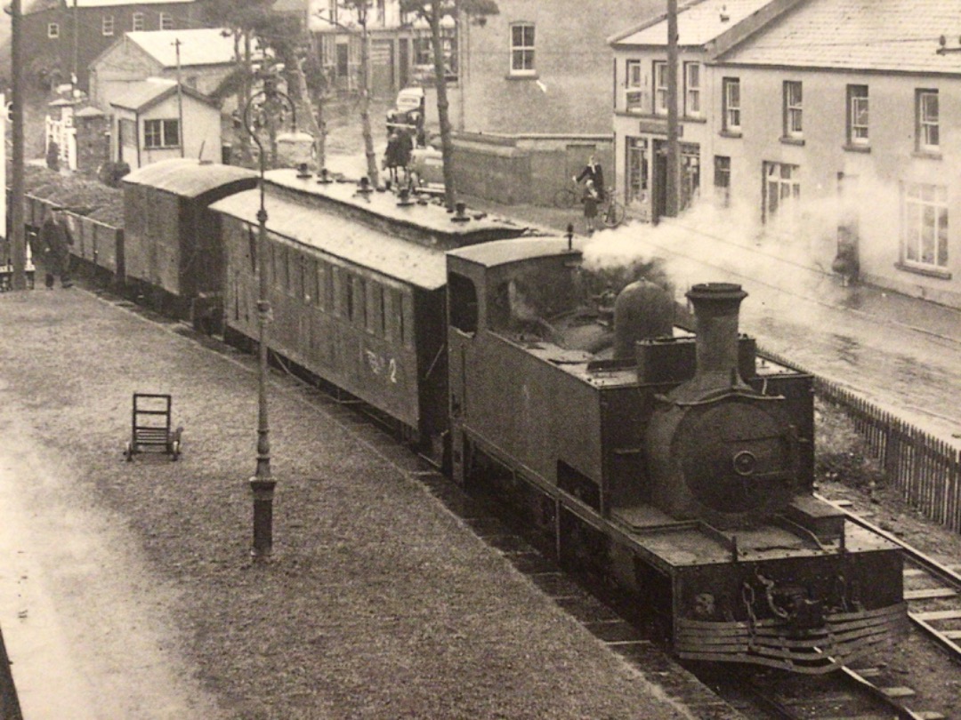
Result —
[[[264, 204], [270, 349], [439, 453], [447, 427], [444, 252], [526, 228], [293, 170], [267, 174]], [[225, 336], [251, 344], [259, 190], [211, 207], [224, 218]]]

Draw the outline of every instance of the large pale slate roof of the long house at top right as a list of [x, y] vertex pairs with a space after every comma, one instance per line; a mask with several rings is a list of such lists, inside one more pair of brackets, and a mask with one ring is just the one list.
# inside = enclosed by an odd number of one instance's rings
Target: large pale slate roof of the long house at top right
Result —
[[961, 56], [938, 55], [938, 37], [956, 46], [961, 2], [808, 0], [737, 45], [724, 62], [961, 74]]

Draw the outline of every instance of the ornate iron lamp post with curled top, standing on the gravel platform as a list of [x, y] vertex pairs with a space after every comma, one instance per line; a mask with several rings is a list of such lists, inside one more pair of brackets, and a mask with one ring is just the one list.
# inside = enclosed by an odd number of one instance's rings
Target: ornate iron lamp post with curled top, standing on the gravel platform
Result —
[[[266, 172], [266, 154], [263, 143], [257, 132], [254, 132], [251, 108], [261, 101], [261, 107], [268, 115], [268, 122], [273, 123], [270, 113], [280, 103], [285, 103], [291, 109], [291, 117], [295, 118], [296, 108], [290, 98], [277, 88], [277, 78], [268, 73], [260, 74], [261, 89], [254, 93], [247, 101], [243, 110], [244, 130], [257, 143], [260, 162], [260, 207], [257, 211], [258, 236], [255, 258], [255, 273], [258, 276], [259, 294], [257, 300], [258, 317], [258, 414], [257, 414], [257, 470], [250, 479], [250, 488], [254, 496], [254, 546], [251, 555], [255, 560], [265, 560], [270, 557], [273, 549], [274, 522], [274, 487], [277, 481], [270, 473], [270, 425], [267, 420], [267, 324], [270, 322], [270, 300], [267, 278], [267, 208], [264, 204], [264, 173]], [[296, 119], [294, 119], [296, 128]]]

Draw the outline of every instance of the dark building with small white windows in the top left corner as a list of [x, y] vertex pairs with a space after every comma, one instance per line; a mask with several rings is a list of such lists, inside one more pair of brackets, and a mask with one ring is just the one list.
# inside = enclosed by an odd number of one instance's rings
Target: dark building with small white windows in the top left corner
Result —
[[24, 13], [27, 70], [56, 86], [76, 79], [87, 88], [87, 66], [128, 31], [197, 27], [194, 0], [47, 0]]

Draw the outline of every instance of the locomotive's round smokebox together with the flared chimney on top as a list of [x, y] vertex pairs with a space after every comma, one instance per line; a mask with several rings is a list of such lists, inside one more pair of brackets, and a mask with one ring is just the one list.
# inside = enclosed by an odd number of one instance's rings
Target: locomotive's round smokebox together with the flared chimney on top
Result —
[[695, 285], [697, 372], [661, 397], [648, 431], [653, 499], [677, 518], [719, 527], [783, 510], [795, 491], [798, 451], [782, 398], [763, 396], [738, 370], [739, 285]]

